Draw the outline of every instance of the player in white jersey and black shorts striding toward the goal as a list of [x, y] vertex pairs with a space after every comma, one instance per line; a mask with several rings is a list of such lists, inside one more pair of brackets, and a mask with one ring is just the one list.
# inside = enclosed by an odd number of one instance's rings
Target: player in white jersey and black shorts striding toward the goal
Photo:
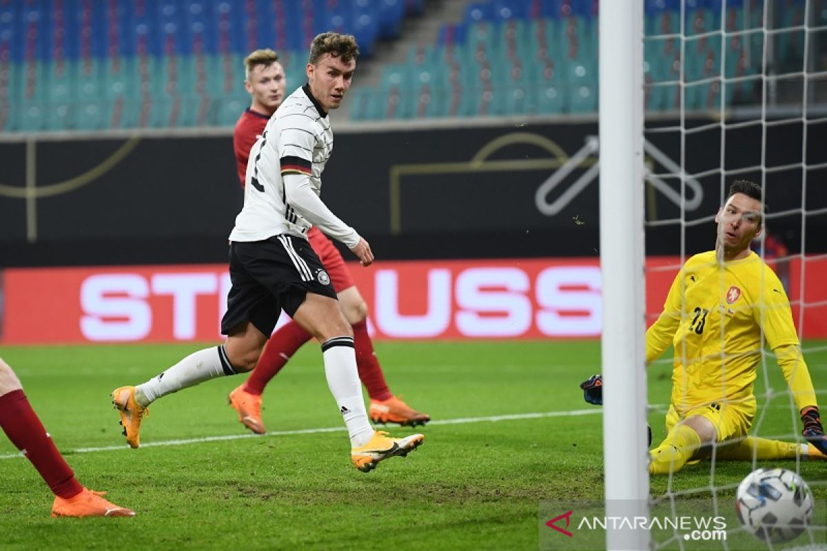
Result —
[[310, 227], [318, 226], [347, 245], [363, 266], [373, 262], [368, 242], [319, 198], [333, 149], [327, 113], [339, 107], [350, 88], [358, 53], [350, 35], [327, 32], [313, 39], [308, 83], [284, 100], [250, 152], [244, 207], [230, 234], [232, 288], [222, 319], [227, 340], [190, 354], [141, 385], [112, 392], [132, 448], [140, 445], [141, 420], [152, 401], [255, 368], [282, 308], [322, 343], [327, 384], [347, 425], [356, 468], [369, 472], [380, 461], [422, 444], [423, 435], [395, 439], [370, 426], [351, 326], [306, 237]]

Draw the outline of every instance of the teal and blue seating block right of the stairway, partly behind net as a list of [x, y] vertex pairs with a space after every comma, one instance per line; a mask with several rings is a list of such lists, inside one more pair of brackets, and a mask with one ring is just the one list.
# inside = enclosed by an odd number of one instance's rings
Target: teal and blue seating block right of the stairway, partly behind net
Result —
[[[803, 21], [803, 0], [777, 17]], [[423, 116], [590, 113], [597, 109], [596, 0], [471, 2], [436, 43], [411, 48], [363, 90], [356, 120]], [[650, 112], [719, 109], [760, 102], [762, 0], [645, 2], [644, 71]], [[776, 62], [801, 59], [803, 33], [781, 33]], [[720, 67], [724, 64], [724, 79]], [[685, 97], [681, 97], [681, 88]]]

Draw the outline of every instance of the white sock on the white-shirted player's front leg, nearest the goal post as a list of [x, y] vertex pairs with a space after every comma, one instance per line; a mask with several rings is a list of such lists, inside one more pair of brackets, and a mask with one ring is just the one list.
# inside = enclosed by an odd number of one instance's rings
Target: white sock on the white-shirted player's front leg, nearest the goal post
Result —
[[367, 422], [365, 398], [362, 397], [359, 373], [356, 371], [353, 337], [333, 337], [324, 341], [322, 356], [327, 386], [345, 420], [351, 446], [363, 446], [373, 437], [373, 427]]

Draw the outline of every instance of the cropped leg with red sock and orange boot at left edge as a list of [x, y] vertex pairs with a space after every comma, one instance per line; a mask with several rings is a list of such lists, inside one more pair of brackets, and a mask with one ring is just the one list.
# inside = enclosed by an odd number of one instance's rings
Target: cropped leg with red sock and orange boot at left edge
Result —
[[135, 511], [103, 499], [106, 492], [88, 490], [74, 478], [74, 473], [55, 448], [31, 409], [20, 379], [0, 358], [0, 428], [12, 444], [41, 473], [55, 494], [52, 516], [134, 516]]

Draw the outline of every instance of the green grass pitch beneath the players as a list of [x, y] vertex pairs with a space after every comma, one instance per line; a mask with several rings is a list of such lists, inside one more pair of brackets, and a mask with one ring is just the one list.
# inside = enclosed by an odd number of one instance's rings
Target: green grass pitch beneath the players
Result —
[[[314, 346], [267, 388], [269, 435], [248, 435], [237, 422], [227, 392], [241, 377], [222, 378], [157, 401], [141, 430], [142, 444], [152, 445], [128, 449], [109, 392], [198, 348], [0, 350], [79, 481], [137, 511], [131, 519], [52, 519], [48, 488], [0, 437], [0, 549], [538, 549], [540, 501], [603, 496], [600, 408], [578, 388], [600, 371], [597, 341], [378, 343], [391, 390], [435, 422], [418, 428], [425, 443], [408, 458], [367, 474], [351, 467]], [[815, 387], [827, 388], [827, 353], [807, 359]], [[669, 372], [666, 363], [650, 368], [650, 403], [667, 402]], [[773, 362], [768, 373], [768, 384], [782, 389]], [[771, 402], [762, 434], [792, 434], [787, 402]], [[662, 419], [662, 411], [650, 415], [656, 443]], [[325, 428], [342, 430], [289, 432]], [[652, 493], [714, 483], [729, 486], [720, 496], [731, 499], [750, 468], [719, 463], [710, 482], [702, 462], [671, 484], [654, 478]], [[802, 463], [801, 473], [827, 499], [827, 463]]]

